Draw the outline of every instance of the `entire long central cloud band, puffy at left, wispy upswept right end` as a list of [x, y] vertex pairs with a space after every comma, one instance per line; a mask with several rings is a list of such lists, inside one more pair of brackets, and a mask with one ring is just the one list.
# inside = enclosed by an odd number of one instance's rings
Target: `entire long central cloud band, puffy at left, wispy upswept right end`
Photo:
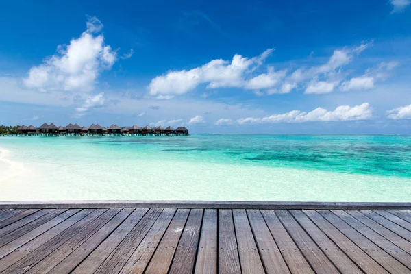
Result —
[[[284, 94], [297, 88], [303, 88], [308, 94], [329, 93], [345, 79], [343, 66], [350, 64], [356, 55], [371, 44], [372, 42], [364, 42], [357, 47], [336, 49], [325, 63], [317, 66], [289, 71], [276, 70], [273, 66], [267, 65], [265, 73], [257, 74], [256, 69], [264, 64], [273, 49], [268, 49], [253, 58], [236, 54], [231, 61], [216, 59], [188, 71], [169, 71], [155, 77], [149, 84], [149, 95], [156, 99], [171, 99], [175, 95], [183, 95], [194, 90], [200, 84], [207, 84], [207, 88], [253, 90], [253, 94], [257, 96]], [[356, 82], [356, 79], [353, 82]], [[349, 88], [353, 84], [345, 85]], [[206, 96], [207, 94], [203, 95]]]

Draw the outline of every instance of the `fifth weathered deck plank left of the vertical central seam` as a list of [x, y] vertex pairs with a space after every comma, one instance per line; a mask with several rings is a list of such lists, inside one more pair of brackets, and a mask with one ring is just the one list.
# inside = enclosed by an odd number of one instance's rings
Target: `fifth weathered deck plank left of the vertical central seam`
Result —
[[151, 208], [95, 273], [119, 273], [153, 223], [161, 216], [162, 210], [162, 208]]

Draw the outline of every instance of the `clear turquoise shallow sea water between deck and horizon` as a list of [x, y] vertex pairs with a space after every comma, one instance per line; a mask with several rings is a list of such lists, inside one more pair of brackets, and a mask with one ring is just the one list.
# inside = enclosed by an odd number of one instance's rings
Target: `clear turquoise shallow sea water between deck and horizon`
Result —
[[4, 137], [2, 149], [1, 200], [411, 201], [411, 136]]

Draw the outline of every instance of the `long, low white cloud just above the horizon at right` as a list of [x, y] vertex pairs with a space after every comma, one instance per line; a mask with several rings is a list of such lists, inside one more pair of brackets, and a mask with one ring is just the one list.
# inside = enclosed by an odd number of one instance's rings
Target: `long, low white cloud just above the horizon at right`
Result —
[[369, 119], [372, 116], [372, 108], [369, 103], [350, 107], [349, 105], [340, 105], [335, 110], [326, 110], [316, 108], [311, 112], [301, 112], [301, 110], [292, 110], [284, 114], [273, 114], [262, 118], [247, 117], [238, 119], [237, 123], [244, 124], [262, 124], [262, 123], [304, 123], [304, 122], [331, 122], [331, 121], [356, 121]]

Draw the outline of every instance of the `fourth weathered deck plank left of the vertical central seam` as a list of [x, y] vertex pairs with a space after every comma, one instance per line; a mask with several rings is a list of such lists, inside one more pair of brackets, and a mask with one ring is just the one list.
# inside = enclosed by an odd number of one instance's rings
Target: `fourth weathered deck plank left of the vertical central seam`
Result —
[[153, 256], [155, 249], [157, 249], [158, 243], [164, 235], [164, 232], [166, 232], [167, 227], [169, 227], [175, 211], [175, 208], [164, 209], [123, 269], [121, 269], [120, 273], [138, 274], [145, 271], [151, 256]]

